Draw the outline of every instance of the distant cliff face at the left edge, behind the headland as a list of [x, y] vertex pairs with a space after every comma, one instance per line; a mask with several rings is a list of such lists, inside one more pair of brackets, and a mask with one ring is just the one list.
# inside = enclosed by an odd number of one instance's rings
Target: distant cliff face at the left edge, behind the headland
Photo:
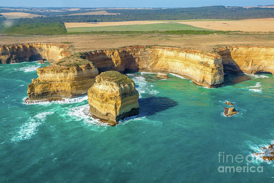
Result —
[[64, 51], [66, 48], [66, 45], [49, 43], [0, 45], [0, 63], [20, 63], [39, 59], [55, 63], [69, 55]]

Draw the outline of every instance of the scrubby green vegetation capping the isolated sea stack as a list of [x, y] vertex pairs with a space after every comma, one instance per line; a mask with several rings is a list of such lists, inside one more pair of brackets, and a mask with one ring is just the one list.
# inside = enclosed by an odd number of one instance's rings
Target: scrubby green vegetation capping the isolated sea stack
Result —
[[130, 85], [132, 82], [134, 82], [126, 75], [114, 70], [103, 72], [99, 74], [96, 79], [114, 82], [118, 85]]

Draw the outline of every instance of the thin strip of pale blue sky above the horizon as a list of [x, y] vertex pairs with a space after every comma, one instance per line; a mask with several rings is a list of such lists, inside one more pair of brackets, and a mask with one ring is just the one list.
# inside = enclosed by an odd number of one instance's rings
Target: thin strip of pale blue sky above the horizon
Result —
[[2, 1], [0, 6], [33, 7], [199, 7], [211, 5], [253, 6], [271, 5], [273, 0], [12, 0]]

